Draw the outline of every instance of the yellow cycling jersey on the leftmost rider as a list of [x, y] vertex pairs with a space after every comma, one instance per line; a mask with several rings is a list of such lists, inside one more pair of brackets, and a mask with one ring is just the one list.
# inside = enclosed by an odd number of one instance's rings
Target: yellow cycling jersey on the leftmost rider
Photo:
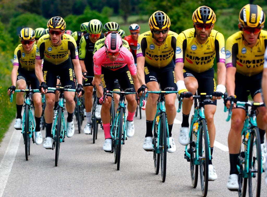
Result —
[[36, 44], [33, 44], [33, 50], [29, 54], [24, 51], [22, 44], [19, 44], [14, 51], [13, 66], [19, 66], [24, 70], [32, 71], [35, 69]]

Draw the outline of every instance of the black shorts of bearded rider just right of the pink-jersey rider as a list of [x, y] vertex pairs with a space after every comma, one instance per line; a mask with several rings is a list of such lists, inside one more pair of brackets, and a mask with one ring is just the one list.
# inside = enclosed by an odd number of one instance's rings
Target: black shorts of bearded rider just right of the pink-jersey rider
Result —
[[163, 68], [150, 66], [145, 62], [144, 72], [146, 84], [151, 81], [156, 81], [160, 84], [163, 91], [177, 91], [173, 61]]

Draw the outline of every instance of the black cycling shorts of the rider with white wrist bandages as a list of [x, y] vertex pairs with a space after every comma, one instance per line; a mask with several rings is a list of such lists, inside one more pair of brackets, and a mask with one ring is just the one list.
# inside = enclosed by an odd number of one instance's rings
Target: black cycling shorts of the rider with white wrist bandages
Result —
[[[216, 91], [216, 83], [214, 79], [214, 69], [213, 67], [209, 70], [206, 70], [202, 73], [196, 73], [187, 68], [183, 68], [183, 76], [186, 77], [195, 77], [198, 81], [197, 95], [200, 93], [207, 93], [207, 95], [212, 95]], [[205, 100], [205, 105], [217, 105], [217, 100], [212, 101], [211, 99]]]

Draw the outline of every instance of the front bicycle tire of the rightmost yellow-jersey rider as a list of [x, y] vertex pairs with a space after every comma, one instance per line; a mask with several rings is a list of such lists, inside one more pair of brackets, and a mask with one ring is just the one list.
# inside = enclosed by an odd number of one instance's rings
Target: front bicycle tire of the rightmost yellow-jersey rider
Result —
[[[253, 143], [251, 143], [253, 142]], [[258, 127], [253, 127], [250, 134], [249, 145], [249, 173], [248, 191], [249, 196], [260, 196], [261, 194], [261, 142]]]

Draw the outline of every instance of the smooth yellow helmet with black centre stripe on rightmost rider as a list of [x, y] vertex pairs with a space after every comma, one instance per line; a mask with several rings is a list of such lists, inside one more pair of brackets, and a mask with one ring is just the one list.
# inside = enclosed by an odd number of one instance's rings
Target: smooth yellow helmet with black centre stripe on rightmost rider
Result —
[[263, 27], [265, 14], [260, 6], [247, 4], [240, 10], [239, 22], [249, 27]]

